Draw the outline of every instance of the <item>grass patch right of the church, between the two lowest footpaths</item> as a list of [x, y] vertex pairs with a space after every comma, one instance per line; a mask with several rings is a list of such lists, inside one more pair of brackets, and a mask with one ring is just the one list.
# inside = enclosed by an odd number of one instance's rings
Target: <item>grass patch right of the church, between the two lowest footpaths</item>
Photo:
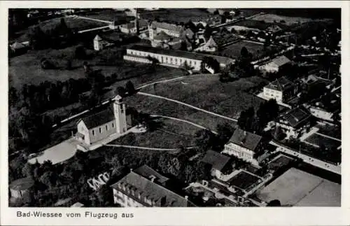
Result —
[[160, 126], [155, 131], [140, 134], [127, 134], [111, 144], [124, 144], [129, 146], [141, 146], [148, 148], [178, 148], [195, 145], [195, 132], [199, 128], [188, 125], [185, 122], [158, 119]]

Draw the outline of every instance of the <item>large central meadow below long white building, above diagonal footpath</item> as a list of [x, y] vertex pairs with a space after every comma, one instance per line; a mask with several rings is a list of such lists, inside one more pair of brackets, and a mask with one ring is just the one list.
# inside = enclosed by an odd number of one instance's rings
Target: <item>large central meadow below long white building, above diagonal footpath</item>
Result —
[[152, 86], [141, 91], [183, 101], [230, 118], [238, 118], [241, 111], [250, 106], [258, 107], [264, 101], [244, 92], [248, 87], [262, 82], [262, 78], [252, 77], [221, 83], [217, 76], [200, 75], [158, 84], [155, 90]]

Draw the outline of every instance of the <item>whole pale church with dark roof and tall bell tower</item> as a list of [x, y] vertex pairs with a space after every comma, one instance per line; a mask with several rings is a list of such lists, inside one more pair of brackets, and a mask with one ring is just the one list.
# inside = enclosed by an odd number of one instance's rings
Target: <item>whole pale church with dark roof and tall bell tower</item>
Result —
[[118, 95], [113, 100], [113, 104], [103, 111], [78, 121], [76, 133], [78, 141], [90, 146], [111, 135], [127, 132], [132, 125], [131, 115], [127, 113], [122, 97]]

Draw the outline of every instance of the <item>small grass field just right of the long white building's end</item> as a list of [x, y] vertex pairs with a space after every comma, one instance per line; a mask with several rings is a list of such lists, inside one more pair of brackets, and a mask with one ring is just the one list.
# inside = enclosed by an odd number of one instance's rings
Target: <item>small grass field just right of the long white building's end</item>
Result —
[[221, 50], [221, 54], [223, 56], [231, 57], [233, 59], [237, 59], [241, 55], [241, 48], [245, 47], [248, 52], [251, 52], [254, 58], [265, 55], [269, 51], [277, 50], [278, 47], [269, 46], [264, 48], [262, 43], [257, 43], [253, 41], [237, 41], [232, 43], [231, 45], [225, 46], [223, 50]]

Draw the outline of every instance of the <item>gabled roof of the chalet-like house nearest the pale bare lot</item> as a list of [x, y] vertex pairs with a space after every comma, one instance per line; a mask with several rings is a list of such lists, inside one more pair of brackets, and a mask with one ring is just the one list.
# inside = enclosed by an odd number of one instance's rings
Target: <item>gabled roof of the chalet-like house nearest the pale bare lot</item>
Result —
[[255, 150], [262, 139], [262, 136], [246, 132], [243, 129], [236, 129], [233, 133], [230, 142], [239, 146], [247, 148], [248, 150]]

